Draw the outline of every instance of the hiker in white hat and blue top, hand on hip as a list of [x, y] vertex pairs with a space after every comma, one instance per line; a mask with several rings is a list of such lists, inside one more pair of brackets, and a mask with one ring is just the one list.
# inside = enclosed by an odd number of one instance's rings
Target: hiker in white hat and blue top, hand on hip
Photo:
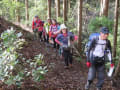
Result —
[[65, 68], [72, 67], [72, 48], [71, 43], [74, 42], [75, 36], [69, 32], [64, 24], [60, 25], [61, 34], [59, 34], [55, 41], [60, 45], [62, 56], [65, 61]]

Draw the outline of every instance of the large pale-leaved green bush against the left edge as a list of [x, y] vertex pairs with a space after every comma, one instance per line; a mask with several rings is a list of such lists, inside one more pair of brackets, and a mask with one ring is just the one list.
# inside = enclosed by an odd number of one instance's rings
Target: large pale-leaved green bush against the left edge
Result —
[[3, 42], [0, 43], [0, 80], [8, 85], [15, 84], [22, 78], [13, 76], [13, 70], [18, 64], [19, 54], [16, 52], [17, 49], [21, 49], [25, 40], [20, 39], [21, 33], [15, 33], [13, 29], [6, 30], [1, 34]]

